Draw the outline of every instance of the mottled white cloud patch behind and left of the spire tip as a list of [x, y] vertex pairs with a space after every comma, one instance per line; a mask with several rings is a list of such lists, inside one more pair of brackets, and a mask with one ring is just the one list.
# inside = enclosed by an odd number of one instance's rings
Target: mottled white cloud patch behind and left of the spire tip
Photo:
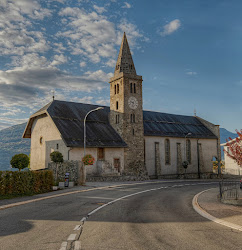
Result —
[[81, 55], [94, 64], [102, 62], [103, 58], [116, 57], [116, 46], [120, 45], [124, 31], [131, 47], [138, 39], [144, 38], [137, 26], [126, 19], [115, 25], [107, 16], [77, 7], [63, 8], [59, 15], [64, 19], [66, 29], [57, 33], [57, 39], [66, 40], [72, 55]]

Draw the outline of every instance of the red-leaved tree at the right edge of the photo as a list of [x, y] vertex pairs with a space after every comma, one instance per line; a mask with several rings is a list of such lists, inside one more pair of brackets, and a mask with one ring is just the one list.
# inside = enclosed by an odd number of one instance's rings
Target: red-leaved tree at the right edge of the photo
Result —
[[224, 149], [224, 153], [242, 167], [242, 129], [240, 132], [236, 130], [236, 133], [238, 134], [238, 137], [233, 140], [229, 137], [230, 141], [226, 140], [228, 150]]

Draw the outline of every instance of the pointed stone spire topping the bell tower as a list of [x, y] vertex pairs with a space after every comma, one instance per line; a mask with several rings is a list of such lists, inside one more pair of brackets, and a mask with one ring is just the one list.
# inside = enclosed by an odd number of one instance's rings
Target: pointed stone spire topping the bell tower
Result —
[[132, 55], [129, 49], [129, 44], [125, 32], [120, 46], [118, 60], [114, 70], [114, 75], [117, 75], [120, 72], [123, 72], [125, 74], [136, 75], [134, 62], [132, 59]]

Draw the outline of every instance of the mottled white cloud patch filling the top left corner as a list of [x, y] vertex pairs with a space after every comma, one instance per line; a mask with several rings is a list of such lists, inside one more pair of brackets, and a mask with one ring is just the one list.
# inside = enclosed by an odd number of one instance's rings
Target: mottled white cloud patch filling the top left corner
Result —
[[37, 1], [5, 1], [0, 9], [0, 56], [45, 52], [49, 45], [42, 32], [31, 29], [33, 20], [43, 20], [51, 11]]

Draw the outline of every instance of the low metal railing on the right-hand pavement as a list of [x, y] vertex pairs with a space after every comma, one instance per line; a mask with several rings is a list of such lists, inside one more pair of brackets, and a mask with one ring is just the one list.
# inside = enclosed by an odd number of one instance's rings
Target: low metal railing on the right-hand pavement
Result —
[[223, 200], [238, 200], [242, 198], [239, 181], [220, 181], [219, 195]]

